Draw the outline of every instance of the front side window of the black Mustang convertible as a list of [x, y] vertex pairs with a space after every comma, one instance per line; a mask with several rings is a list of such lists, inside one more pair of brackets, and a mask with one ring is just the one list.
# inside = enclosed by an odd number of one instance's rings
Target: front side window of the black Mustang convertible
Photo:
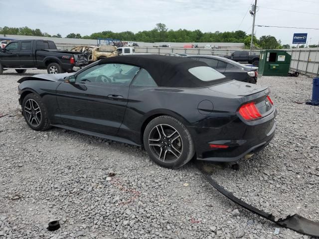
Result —
[[125, 64], [95, 65], [76, 76], [76, 82], [92, 82], [128, 86], [139, 67]]

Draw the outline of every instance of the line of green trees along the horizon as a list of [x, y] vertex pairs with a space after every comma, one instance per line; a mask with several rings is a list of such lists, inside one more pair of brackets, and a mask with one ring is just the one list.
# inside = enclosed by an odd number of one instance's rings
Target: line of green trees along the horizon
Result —
[[[62, 37], [61, 34], [50, 35], [47, 32], [42, 32], [40, 29], [31, 29], [25, 27], [0, 27], [0, 34], [8, 35], [29, 35], [29, 36], [46, 36], [46, 37]], [[243, 42], [246, 47], [250, 46], [251, 35], [245, 31], [215, 31], [202, 32], [201, 30], [186, 30], [168, 29], [165, 24], [158, 23], [152, 30], [144, 30], [134, 33], [132, 31], [113, 32], [101, 31], [91, 35], [81, 36], [80, 33], [69, 33], [66, 38], [82, 38], [82, 39], [97, 39], [97, 38], [113, 38], [126, 41], [141, 41], [141, 42]], [[282, 45], [280, 40], [271, 35], [261, 36], [259, 39], [254, 36], [253, 43], [256, 47], [262, 49], [282, 49], [290, 48], [290, 45]], [[302, 46], [300, 46], [302, 47]], [[311, 45], [309, 47], [317, 47]], [[293, 47], [294, 48], [294, 47]]]

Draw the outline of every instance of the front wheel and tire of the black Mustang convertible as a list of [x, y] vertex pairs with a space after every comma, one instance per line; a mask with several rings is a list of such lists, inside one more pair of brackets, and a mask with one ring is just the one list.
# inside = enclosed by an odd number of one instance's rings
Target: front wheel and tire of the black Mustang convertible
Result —
[[51, 127], [46, 107], [38, 95], [28, 94], [24, 97], [22, 114], [26, 123], [34, 130], [43, 131]]

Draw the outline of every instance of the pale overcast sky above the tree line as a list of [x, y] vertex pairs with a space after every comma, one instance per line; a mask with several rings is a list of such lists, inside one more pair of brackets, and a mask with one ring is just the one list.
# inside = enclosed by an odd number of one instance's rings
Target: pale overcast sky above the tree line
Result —
[[[103, 30], [151, 30], [161, 22], [174, 30], [240, 29], [250, 34], [252, 17], [246, 12], [251, 3], [252, 0], [0, 0], [0, 27], [28, 26], [65, 37], [70, 32], [83, 36]], [[258, 0], [257, 6], [255, 24], [319, 28], [319, 0]], [[319, 41], [319, 30], [255, 27], [255, 31], [258, 38], [273, 35], [283, 44], [292, 42], [294, 32], [307, 32], [312, 44]]]

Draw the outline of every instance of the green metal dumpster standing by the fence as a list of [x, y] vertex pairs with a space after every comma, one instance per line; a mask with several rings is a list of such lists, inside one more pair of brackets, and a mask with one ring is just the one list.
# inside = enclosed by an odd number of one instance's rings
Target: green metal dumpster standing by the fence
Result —
[[288, 76], [291, 55], [281, 50], [264, 50], [260, 52], [258, 77]]

